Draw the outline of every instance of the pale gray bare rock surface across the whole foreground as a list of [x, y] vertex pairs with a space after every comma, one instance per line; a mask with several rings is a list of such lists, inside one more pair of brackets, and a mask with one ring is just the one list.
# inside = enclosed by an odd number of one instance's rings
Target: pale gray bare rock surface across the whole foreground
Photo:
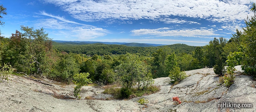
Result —
[[[236, 73], [243, 72], [236, 66]], [[108, 100], [103, 86], [84, 86], [81, 100], [72, 96], [75, 85], [47, 86], [28, 78], [13, 76], [0, 82], [0, 112], [256, 112], [256, 82], [250, 76], [237, 75], [229, 88], [220, 85], [212, 68], [186, 71], [187, 78], [177, 85], [170, 78], [156, 78], [160, 91], [130, 100]], [[182, 102], [175, 105], [172, 97]], [[66, 99], [58, 99], [61, 97]], [[90, 99], [85, 100], [84, 98]], [[148, 99], [147, 108], [137, 100]], [[252, 104], [252, 108], [218, 108], [218, 104]]]

